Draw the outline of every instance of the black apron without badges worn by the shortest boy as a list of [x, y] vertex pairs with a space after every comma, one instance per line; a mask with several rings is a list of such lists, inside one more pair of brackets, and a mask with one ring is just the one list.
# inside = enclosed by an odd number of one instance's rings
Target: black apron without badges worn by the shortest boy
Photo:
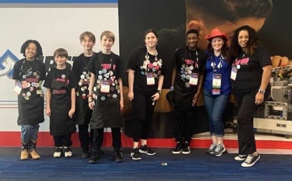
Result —
[[68, 114], [71, 109], [71, 90], [68, 89], [70, 70], [66, 68], [65, 78], [61, 77], [65, 81], [62, 82], [55, 80], [56, 69], [52, 71], [50, 133], [53, 136], [68, 135], [76, 131], [74, 119]]

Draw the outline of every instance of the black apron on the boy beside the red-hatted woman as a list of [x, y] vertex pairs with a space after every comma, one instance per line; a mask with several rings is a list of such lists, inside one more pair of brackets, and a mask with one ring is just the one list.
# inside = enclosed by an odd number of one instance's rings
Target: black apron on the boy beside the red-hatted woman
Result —
[[[185, 60], [187, 58], [193, 61], [193, 63], [189, 65], [186, 64]], [[188, 77], [191, 73], [199, 73], [198, 55], [196, 55], [196, 58], [193, 60], [188, 48], [186, 48], [185, 53], [181, 54], [178, 65], [173, 90], [174, 108], [177, 110], [191, 111], [193, 109], [192, 100], [197, 92], [197, 86], [189, 85]]]

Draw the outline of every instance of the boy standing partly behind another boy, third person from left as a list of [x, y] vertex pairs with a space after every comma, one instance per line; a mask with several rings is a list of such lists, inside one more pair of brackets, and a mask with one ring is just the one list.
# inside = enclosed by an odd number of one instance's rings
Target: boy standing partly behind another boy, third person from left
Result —
[[[95, 45], [95, 36], [91, 32], [84, 32], [80, 35], [80, 44], [84, 53], [80, 54], [73, 62], [73, 74], [78, 81], [76, 87], [76, 124], [78, 125], [79, 141], [82, 148], [81, 157], [89, 157], [90, 137], [88, 134], [88, 125], [91, 119], [92, 110], [88, 107], [88, 88], [90, 73], [87, 65], [93, 56], [93, 46]], [[91, 132], [91, 131], [90, 131]]]

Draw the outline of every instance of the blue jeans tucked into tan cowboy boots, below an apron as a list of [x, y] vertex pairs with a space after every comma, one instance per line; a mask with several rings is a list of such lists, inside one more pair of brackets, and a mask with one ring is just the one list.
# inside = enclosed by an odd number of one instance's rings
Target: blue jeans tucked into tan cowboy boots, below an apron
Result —
[[22, 125], [20, 127], [21, 127], [20, 139], [22, 144], [26, 145], [30, 141], [33, 141], [35, 143], [37, 140], [39, 125]]

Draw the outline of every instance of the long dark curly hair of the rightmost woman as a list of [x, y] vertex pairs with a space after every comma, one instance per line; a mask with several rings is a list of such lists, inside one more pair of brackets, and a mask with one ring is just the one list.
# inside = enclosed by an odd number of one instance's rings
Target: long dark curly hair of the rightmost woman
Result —
[[252, 55], [255, 53], [258, 45], [260, 44], [260, 41], [258, 40], [257, 32], [255, 29], [248, 25], [244, 25], [239, 27], [235, 30], [232, 40], [231, 40], [231, 50], [232, 54], [237, 57], [239, 54], [243, 52], [242, 48], [240, 47], [238, 43], [238, 36], [240, 31], [245, 30], [248, 32], [248, 42], [247, 42], [247, 52], [246, 54]]

